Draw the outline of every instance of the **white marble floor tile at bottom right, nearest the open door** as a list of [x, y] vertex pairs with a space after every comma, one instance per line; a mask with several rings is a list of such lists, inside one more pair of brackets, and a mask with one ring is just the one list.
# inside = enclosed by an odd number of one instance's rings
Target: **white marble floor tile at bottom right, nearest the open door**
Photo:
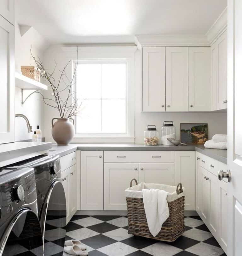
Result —
[[202, 242], [187, 248], [186, 251], [199, 256], [220, 256], [224, 253], [222, 248]]

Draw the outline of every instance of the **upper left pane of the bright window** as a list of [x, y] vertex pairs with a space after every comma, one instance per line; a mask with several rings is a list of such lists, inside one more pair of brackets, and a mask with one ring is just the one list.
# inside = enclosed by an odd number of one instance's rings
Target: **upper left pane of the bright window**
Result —
[[101, 98], [101, 64], [78, 64], [77, 98]]

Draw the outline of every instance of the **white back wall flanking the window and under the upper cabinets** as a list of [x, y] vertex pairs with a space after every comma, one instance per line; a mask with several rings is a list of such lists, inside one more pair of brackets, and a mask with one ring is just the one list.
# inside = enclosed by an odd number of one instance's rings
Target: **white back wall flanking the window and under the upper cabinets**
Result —
[[[44, 62], [49, 69], [53, 68], [56, 60], [58, 67], [62, 68], [68, 58], [61, 52], [60, 46], [52, 46], [44, 53]], [[69, 69], [71, 72], [71, 69]], [[180, 123], [208, 123], [209, 138], [215, 133], [227, 133], [227, 113], [141, 113], [141, 76], [140, 51], [135, 53], [135, 143], [143, 143], [143, 131], [147, 125], [157, 125], [161, 129], [164, 121], [173, 121], [176, 126], [176, 138], [180, 139]], [[46, 96], [51, 97], [50, 90]], [[53, 141], [51, 136], [51, 119], [59, 117], [58, 112], [44, 106], [43, 133], [46, 141]]]

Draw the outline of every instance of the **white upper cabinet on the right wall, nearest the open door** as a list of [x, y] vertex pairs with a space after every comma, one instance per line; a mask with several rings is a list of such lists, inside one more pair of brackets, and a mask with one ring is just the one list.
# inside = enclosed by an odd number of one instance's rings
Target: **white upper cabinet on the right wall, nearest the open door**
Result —
[[227, 108], [227, 32], [211, 46], [211, 111]]

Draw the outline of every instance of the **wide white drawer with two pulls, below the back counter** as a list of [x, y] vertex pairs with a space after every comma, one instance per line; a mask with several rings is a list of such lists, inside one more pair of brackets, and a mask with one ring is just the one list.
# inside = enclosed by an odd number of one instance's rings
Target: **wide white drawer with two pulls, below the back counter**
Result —
[[105, 163], [174, 163], [174, 151], [104, 151]]

